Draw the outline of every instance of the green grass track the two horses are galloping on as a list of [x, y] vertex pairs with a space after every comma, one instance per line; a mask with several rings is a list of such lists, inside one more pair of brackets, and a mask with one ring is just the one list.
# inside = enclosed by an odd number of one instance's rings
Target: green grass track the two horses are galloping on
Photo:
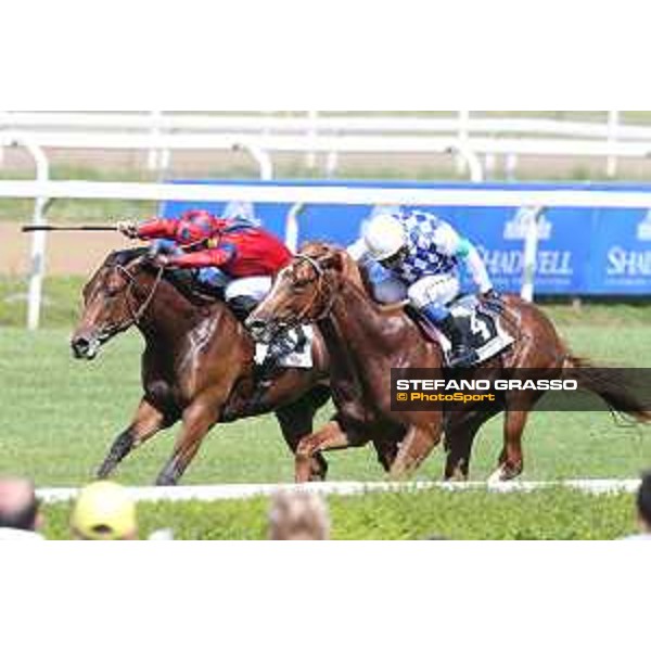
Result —
[[[11, 283], [9, 283], [11, 284]], [[47, 328], [36, 334], [16, 327], [15, 292], [0, 283], [0, 473], [31, 475], [40, 485], [87, 481], [113, 438], [128, 424], [140, 396], [137, 334], [113, 342], [92, 363], [71, 359], [68, 337], [79, 281], [51, 283]], [[550, 307], [551, 316], [576, 352], [603, 361], [651, 365], [649, 307], [590, 306], [582, 315]], [[10, 323], [10, 326], [4, 326]], [[588, 324], [582, 324], [588, 323]], [[324, 410], [321, 420], [329, 416]], [[138, 450], [119, 471], [130, 484], [149, 484], [171, 451], [173, 433]], [[525, 439], [526, 478], [631, 477], [651, 465], [651, 437], [640, 429], [618, 429], [607, 413], [538, 413]], [[485, 478], [501, 446], [500, 421], [478, 439], [474, 478]], [[380, 480], [370, 450], [333, 454], [333, 480]], [[420, 473], [438, 478], [443, 456], [434, 455]], [[286, 482], [292, 462], [272, 418], [215, 430], [186, 482]]]

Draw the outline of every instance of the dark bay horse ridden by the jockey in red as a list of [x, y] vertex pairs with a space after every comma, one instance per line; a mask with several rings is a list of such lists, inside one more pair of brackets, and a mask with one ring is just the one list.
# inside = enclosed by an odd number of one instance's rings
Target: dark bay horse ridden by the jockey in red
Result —
[[[276, 412], [292, 451], [312, 432], [316, 411], [330, 398], [328, 353], [315, 340], [311, 370], [282, 371], [260, 394], [255, 344], [220, 301], [201, 301], [152, 266], [143, 250], [114, 253], [84, 290], [85, 310], [72, 340], [75, 356], [93, 359], [99, 348], [130, 328], [145, 340], [144, 395], [129, 427], [115, 441], [99, 476], [107, 477], [129, 452], [182, 421], [159, 485], [178, 483], [204, 437], [218, 422]], [[312, 480], [324, 478], [317, 458]]]

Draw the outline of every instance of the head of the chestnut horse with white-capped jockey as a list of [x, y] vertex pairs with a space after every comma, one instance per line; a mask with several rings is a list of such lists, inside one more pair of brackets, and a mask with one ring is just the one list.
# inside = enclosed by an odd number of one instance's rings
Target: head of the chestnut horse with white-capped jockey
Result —
[[270, 294], [247, 319], [252, 336], [269, 343], [281, 332], [324, 319], [344, 278], [361, 283], [357, 266], [345, 251], [307, 245], [280, 271]]

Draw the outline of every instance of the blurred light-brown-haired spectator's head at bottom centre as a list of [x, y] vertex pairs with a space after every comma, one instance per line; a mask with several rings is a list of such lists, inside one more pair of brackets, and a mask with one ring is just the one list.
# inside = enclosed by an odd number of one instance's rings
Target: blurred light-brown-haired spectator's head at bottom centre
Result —
[[271, 540], [329, 540], [330, 518], [324, 500], [308, 493], [280, 493], [269, 512]]

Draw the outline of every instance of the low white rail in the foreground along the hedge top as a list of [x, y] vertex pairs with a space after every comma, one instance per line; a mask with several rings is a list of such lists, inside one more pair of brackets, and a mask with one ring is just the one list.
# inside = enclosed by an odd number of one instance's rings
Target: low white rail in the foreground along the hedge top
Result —
[[[443, 490], [447, 493], [488, 492], [498, 494], [534, 493], [564, 488], [578, 490], [589, 495], [634, 494], [639, 489], [639, 480], [575, 480], [567, 482], [513, 482], [513, 483], [477, 483], [468, 484], [416, 482], [416, 483], [363, 483], [341, 482], [323, 484], [253, 484], [222, 486], [180, 486], [174, 488], [129, 488], [137, 501], [143, 502], [186, 502], [186, 501], [230, 501], [270, 497], [279, 492], [304, 492], [324, 497], [353, 497], [378, 493], [422, 493], [425, 490]], [[76, 488], [44, 488], [38, 497], [48, 503], [68, 502], [74, 500]]]

